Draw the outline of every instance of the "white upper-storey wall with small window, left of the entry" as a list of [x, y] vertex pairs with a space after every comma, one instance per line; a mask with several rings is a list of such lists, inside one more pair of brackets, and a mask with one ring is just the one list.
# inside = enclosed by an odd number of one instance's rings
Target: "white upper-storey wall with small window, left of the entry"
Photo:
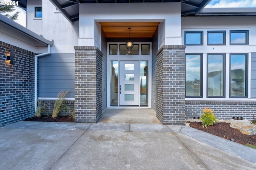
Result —
[[[36, 6], [42, 6], [42, 18], [34, 18]], [[27, 28], [54, 40], [51, 53], [74, 53], [78, 45], [78, 22], [70, 24], [49, 0], [27, 0]]]

